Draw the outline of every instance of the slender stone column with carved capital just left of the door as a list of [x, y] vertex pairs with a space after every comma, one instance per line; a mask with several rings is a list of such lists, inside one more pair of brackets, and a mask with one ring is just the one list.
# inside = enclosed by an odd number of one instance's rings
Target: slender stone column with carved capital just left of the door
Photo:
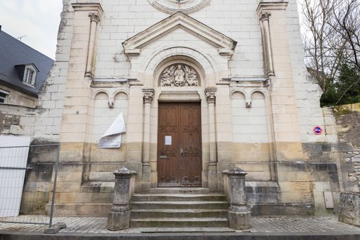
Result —
[[143, 189], [150, 187], [150, 110], [154, 99], [154, 88], [143, 88], [144, 136], [143, 136]]

